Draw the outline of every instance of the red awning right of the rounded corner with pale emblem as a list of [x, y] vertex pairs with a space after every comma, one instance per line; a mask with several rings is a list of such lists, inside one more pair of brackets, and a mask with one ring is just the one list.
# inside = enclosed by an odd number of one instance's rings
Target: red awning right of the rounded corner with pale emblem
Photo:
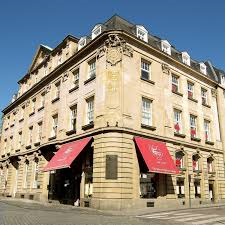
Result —
[[166, 144], [141, 137], [134, 138], [150, 172], [178, 174]]

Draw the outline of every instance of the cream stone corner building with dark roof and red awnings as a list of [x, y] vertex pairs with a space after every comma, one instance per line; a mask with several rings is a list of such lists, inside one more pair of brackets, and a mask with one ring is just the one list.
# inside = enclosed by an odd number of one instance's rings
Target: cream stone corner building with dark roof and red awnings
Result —
[[115, 15], [40, 45], [3, 110], [0, 194], [99, 209], [225, 201], [225, 73]]

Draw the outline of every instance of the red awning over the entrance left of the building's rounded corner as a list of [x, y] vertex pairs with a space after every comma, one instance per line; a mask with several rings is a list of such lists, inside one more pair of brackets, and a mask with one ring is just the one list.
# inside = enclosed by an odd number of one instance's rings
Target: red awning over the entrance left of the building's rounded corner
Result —
[[92, 137], [84, 138], [82, 140], [73, 141], [62, 145], [49, 163], [44, 167], [43, 171], [46, 172], [50, 170], [69, 168], [74, 159], [80, 154], [91, 139]]

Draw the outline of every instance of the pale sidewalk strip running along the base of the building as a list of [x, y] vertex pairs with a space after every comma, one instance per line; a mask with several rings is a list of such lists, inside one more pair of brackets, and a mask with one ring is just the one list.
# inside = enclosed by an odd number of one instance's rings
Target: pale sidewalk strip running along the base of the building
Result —
[[43, 203], [39, 201], [29, 200], [29, 199], [14, 199], [0, 197], [0, 203], [5, 203], [8, 205], [33, 210], [45, 210], [45, 211], [79, 211], [82, 214], [99, 214], [99, 215], [110, 215], [110, 216], [137, 216], [144, 214], [151, 214], [157, 212], [169, 212], [169, 211], [183, 211], [187, 209], [204, 209], [204, 208], [223, 208], [225, 204], [209, 204], [201, 207], [185, 207], [185, 208], [141, 208], [141, 209], [126, 209], [121, 211], [112, 210], [98, 210], [87, 207], [75, 207], [72, 205], [54, 204], [54, 203]]

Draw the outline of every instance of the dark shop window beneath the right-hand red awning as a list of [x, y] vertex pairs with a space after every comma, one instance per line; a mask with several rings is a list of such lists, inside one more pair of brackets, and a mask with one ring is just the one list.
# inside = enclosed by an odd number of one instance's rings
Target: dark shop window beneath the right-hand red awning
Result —
[[156, 174], [141, 173], [140, 174], [140, 197], [156, 198]]

